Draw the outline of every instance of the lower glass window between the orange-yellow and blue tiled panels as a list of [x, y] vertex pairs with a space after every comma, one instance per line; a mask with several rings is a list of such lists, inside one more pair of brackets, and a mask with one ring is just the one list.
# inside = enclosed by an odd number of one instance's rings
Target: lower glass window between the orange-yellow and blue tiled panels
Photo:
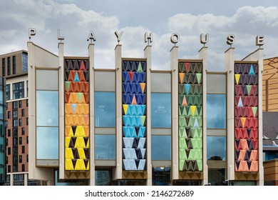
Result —
[[95, 159], [115, 160], [115, 135], [95, 135]]

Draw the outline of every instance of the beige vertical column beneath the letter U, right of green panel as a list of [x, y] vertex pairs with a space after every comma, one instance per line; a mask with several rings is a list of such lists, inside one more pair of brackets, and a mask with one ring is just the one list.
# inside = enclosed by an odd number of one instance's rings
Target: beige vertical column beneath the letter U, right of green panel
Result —
[[202, 47], [199, 51], [199, 59], [202, 59], [202, 166], [204, 178], [202, 185], [208, 183], [207, 169], [207, 66], [208, 50], [207, 46]]

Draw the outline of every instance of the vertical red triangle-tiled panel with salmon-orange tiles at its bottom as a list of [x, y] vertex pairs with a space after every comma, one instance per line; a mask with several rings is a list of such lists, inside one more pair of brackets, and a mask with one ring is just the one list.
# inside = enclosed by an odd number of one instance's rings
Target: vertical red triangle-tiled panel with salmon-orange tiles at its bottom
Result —
[[235, 171], [258, 171], [258, 65], [235, 64]]

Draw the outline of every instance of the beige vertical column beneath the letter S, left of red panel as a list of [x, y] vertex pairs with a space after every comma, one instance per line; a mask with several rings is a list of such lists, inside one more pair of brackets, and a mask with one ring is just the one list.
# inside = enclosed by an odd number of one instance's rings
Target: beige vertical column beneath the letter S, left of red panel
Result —
[[225, 51], [227, 70], [227, 180], [235, 180], [235, 48]]

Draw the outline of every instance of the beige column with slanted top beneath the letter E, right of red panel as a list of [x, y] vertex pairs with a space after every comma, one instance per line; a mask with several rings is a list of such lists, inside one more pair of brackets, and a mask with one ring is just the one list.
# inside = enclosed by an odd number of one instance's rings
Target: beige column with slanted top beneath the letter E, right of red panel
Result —
[[262, 72], [264, 71], [264, 49], [257, 49], [252, 54], [245, 57], [244, 61], [258, 62], [258, 142], [259, 142], [259, 181], [257, 185], [264, 185], [264, 166], [262, 154]]

